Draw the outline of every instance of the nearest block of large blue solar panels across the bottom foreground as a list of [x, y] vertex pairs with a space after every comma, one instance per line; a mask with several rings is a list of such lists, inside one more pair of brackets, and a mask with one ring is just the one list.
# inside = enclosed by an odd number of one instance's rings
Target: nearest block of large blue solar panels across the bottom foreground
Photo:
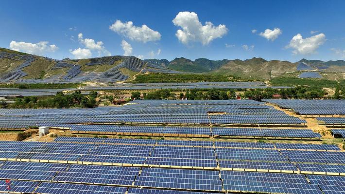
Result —
[[[0, 141], [0, 153], [1, 160], [17, 160], [0, 163], [0, 192], [5, 193], [344, 193], [345, 154], [334, 145], [59, 137], [55, 142]], [[21, 157], [28, 154], [33, 157]], [[319, 160], [291, 162], [297, 155]], [[121, 156], [130, 162], [144, 159], [132, 166], [106, 162]], [[324, 163], [325, 156], [341, 163]], [[86, 158], [95, 162], [85, 163]], [[147, 164], [152, 161], [162, 165]], [[200, 168], [201, 163], [215, 167]], [[322, 172], [328, 175], [316, 175]]]

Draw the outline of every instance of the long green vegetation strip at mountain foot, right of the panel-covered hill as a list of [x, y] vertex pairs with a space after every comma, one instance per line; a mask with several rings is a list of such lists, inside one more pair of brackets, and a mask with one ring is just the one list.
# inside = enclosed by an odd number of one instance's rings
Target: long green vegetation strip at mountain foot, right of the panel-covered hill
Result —
[[[131, 83], [181, 83], [181, 82], [233, 82], [238, 81], [237, 77], [226, 77], [214, 74], [163, 74], [163, 73], [150, 73], [140, 74]], [[253, 81], [253, 80], [241, 80]]]

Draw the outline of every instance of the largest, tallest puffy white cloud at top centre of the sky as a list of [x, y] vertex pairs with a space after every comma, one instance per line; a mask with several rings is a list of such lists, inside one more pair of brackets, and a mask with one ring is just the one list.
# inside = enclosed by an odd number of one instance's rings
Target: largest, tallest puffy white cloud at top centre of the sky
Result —
[[225, 25], [214, 26], [209, 21], [203, 26], [194, 12], [179, 12], [173, 19], [173, 24], [182, 28], [177, 30], [175, 35], [183, 44], [201, 42], [208, 45], [215, 38], [223, 37], [228, 31]]

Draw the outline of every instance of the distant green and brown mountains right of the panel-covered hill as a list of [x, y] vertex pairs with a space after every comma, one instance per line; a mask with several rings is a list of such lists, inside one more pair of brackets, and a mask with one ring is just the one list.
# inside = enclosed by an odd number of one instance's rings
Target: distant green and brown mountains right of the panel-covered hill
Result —
[[[271, 60], [263, 58], [252, 58], [246, 60], [209, 60], [206, 58], [195, 59], [194, 61], [181, 57], [172, 61], [167, 59], [146, 59], [148, 63], [160, 65], [162, 67], [184, 72], [196, 73], [216, 73], [221, 75], [236, 75], [245, 78], [269, 80], [271, 78], [282, 76], [286, 73], [299, 71], [321, 71], [324, 73], [340, 73], [335, 78], [341, 78], [345, 73], [345, 61], [320, 61], [302, 59], [296, 63], [289, 61]], [[300, 69], [301, 64], [306, 67]], [[343, 75], [344, 76], [344, 75]]]

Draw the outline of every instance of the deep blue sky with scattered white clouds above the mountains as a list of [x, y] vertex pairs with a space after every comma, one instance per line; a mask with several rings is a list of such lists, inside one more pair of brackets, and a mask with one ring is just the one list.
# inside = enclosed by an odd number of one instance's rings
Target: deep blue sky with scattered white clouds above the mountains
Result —
[[1, 0], [0, 47], [54, 59], [339, 60], [344, 7], [344, 0]]

